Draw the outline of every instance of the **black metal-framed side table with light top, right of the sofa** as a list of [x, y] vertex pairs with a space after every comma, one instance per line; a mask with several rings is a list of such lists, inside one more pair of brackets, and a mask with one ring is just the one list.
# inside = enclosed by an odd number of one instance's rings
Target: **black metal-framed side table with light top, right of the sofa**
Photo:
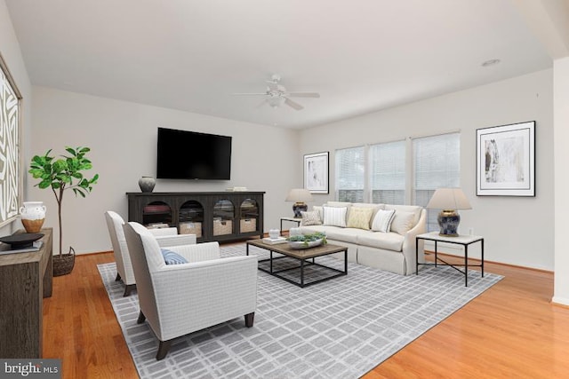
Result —
[[[435, 263], [419, 263], [419, 240], [425, 241], [434, 241], [435, 242]], [[469, 265], [469, 245], [475, 242], [480, 242], [481, 245], [481, 259], [480, 265]], [[455, 243], [457, 245], [462, 245], [464, 247], [464, 265], [453, 265], [445, 262], [443, 259], [437, 257], [437, 243], [438, 242], [445, 242], [445, 243]], [[438, 263], [438, 261], [443, 262], [442, 264]], [[484, 277], [484, 237], [479, 235], [459, 235], [458, 237], [446, 237], [444, 235], [440, 235], [438, 232], [431, 232], [431, 233], [423, 233], [419, 234], [415, 238], [415, 262], [417, 264], [415, 273], [419, 275], [419, 265], [450, 265], [453, 269], [464, 273], [464, 285], [468, 287], [469, 285], [469, 266], [470, 267], [480, 267], [480, 271], [482, 277]], [[458, 267], [464, 267], [464, 270], [461, 270]]]

